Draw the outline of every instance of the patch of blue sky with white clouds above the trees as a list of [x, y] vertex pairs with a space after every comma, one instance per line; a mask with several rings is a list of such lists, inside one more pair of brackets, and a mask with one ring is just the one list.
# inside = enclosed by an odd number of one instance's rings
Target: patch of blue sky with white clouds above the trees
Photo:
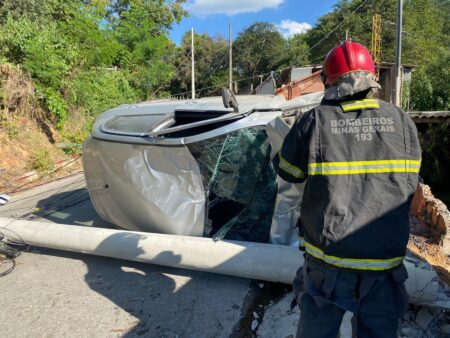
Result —
[[177, 44], [194, 27], [197, 33], [228, 37], [228, 23], [233, 37], [256, 21], [275, 24], [283, 35], [302, 32], [332, 10], [337, 0], [188, 0], [190, 16], [175, 24], [170, 37]]

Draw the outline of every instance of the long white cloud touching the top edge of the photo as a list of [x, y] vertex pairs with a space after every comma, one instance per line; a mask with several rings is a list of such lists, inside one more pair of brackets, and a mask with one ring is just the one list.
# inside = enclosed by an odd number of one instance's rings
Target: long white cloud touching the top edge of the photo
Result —
[[186, 8], [191, 14], [204, 17], [211, 14], [255, 13], [262, 9], [276, 8], [283, 2], [284, 0], [193, 0]]

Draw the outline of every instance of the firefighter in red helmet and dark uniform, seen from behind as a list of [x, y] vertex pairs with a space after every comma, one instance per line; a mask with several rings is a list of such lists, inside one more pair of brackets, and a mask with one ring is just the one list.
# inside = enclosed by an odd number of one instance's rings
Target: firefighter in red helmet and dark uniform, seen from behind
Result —
[[375, 98], [374, 63], [361, 44], [332, 49], [322, 79], [321, 104], [297, 119], [274, 158], [281, 178], [306, 181], [297, 337], [336, 337], [350, 311], [357, 337], [394, 338], [407, 306], [403, 258], [421, 160], [417, 130], [400, 108]]

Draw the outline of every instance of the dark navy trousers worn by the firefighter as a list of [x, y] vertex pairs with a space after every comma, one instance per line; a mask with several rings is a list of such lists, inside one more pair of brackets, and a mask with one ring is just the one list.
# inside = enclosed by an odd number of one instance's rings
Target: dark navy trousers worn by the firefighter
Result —
[[353, 337], [396, 338], [408, 301], [406, 278], [403, 265], [371, 274], [334, 269], [306, 255], [294, 281], [297, 338], [336, 338], [346, 311], [353, 312]]

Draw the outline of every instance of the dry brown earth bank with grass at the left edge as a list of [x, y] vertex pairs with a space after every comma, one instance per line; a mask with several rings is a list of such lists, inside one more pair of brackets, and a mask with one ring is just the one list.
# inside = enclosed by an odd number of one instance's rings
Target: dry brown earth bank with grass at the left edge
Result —
[[31, 78], [13, 65], [0, 64], [0, 193], [23, 184], [14, 181], [27, 172], [43, 176], [71, 158], [57, 146], [60, 141]]

